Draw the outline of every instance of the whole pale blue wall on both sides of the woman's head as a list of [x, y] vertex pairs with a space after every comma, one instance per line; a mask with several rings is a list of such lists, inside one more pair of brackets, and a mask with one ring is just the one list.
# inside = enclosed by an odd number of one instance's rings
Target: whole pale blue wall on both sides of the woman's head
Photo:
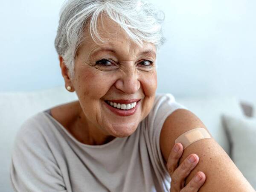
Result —
[[[166, 14], [158, 92], [256, 103], [255, 0], [151, 0]], [[0, 91], [64, 85], [54, 38], [63, 0], [0, 6]]]

